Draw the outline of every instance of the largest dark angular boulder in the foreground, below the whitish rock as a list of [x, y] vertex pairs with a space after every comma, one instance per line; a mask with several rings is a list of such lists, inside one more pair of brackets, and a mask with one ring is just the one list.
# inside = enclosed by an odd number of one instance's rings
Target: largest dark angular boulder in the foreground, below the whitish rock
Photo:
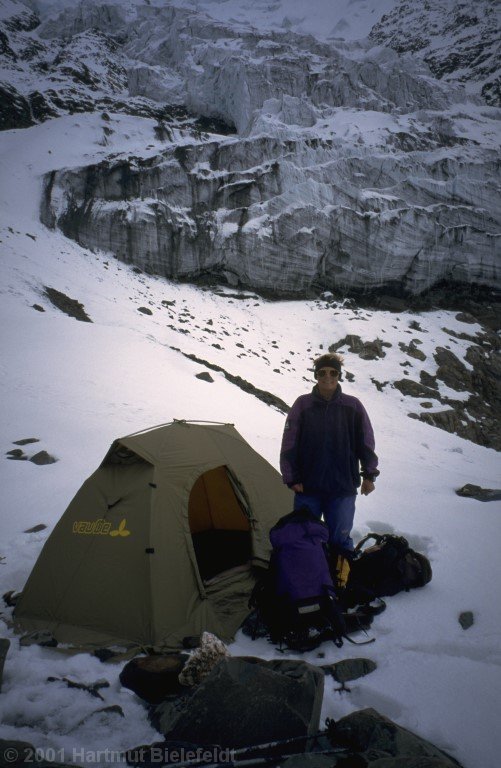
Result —
[[167, 739], [245, 747], [318, 731], [324, 673], [302, 661], [223, 659], [154, 724]]

